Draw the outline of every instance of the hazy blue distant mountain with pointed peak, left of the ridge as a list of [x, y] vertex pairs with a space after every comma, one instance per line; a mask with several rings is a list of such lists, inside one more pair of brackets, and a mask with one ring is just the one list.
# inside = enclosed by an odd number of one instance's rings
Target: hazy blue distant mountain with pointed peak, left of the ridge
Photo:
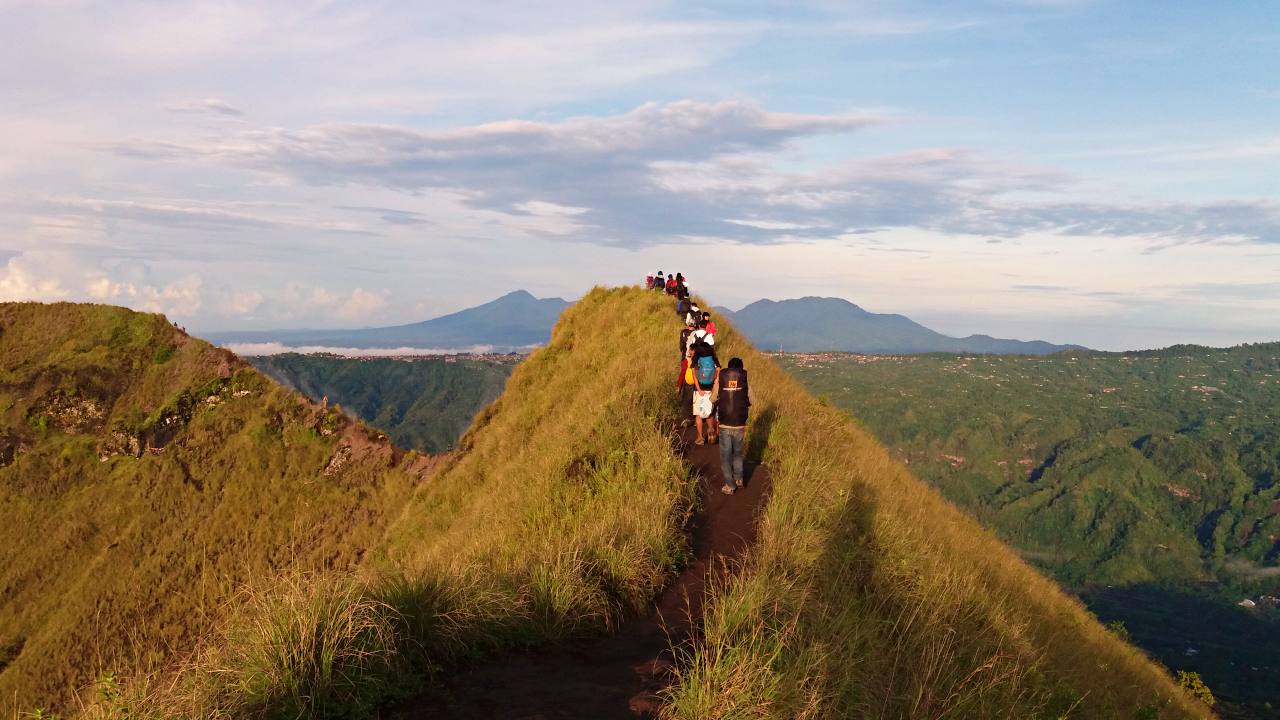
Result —
[[335, 331], [251, 331], [206, 333], [220, 345], [279, 342], [285, 346], [470, 348], [493, 346], [512, 350], [541, 345], [568, 302], [559, 297], [536, 299], [524, 290], [484, 305], [433, 320], [389, 328]]

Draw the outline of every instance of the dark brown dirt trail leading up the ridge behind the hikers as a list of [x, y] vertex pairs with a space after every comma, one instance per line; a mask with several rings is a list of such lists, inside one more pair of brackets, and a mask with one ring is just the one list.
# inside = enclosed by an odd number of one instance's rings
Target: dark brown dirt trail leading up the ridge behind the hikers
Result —
[[708, 571], [755, 542], [755, 520], [769, 492], [768, 469], [748, 464], [746, 488], [721, 492], [719, 446], [681, 447], [699, 478], [703, 511], [690, 533], [694, 561], [658, 598], [653, 611], [618, 633], [579, 644], [534, 648], [453, 676], [445, 687], [399, 708], [403, 720], [634, 720], [653, 717], [655, 693], [669, 680], [671, 644], [701, 620]]

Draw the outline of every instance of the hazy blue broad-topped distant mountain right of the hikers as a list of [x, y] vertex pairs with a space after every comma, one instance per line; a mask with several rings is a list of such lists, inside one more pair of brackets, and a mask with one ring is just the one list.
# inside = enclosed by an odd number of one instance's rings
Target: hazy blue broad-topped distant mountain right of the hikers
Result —
[[[723, 311], [722, 313], [727, 313]], [[1047, 355], [1080, 350], [1075, 345], [1001, 340], [984, 334], [948, 337], [906, 318], [868, 313], [838, 297], [758, 300], [727, 313], [740, 331], [763, 350], [795, 352], [974, 352], [995, 355]]]

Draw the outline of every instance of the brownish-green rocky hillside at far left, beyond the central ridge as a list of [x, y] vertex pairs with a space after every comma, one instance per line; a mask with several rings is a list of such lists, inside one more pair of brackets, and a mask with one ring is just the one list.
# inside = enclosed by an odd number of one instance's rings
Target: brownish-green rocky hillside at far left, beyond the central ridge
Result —
[[422, 475], [159, 315], [0, 305], [0, 714], [173, 661], [255, 578], [355, 566]]

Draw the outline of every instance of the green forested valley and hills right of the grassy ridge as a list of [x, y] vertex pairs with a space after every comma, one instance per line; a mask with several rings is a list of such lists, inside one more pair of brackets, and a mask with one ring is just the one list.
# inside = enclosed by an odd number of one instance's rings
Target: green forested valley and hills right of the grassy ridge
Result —
[[1280, 585], [1280, 343], [780, 361], [1164, 662], [1277, 700], [1280, 623], [1235, 602]]

